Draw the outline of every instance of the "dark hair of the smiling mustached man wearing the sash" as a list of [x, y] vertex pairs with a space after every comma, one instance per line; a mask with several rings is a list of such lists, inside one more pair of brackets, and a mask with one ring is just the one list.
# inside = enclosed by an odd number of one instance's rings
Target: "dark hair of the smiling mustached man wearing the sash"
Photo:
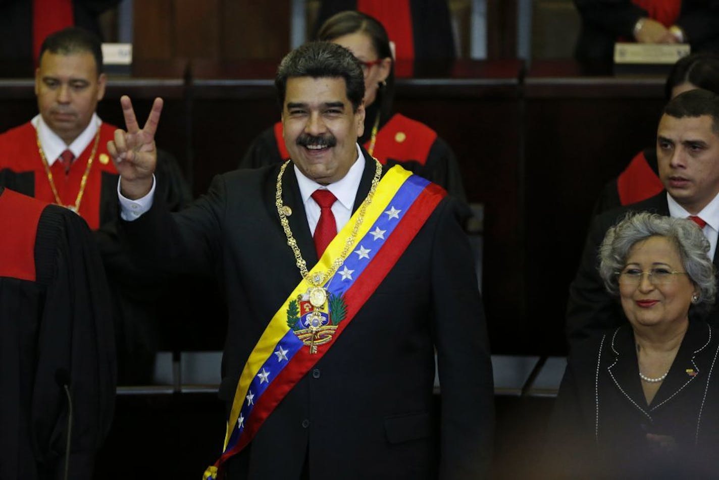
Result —
[[344, 78], [354, 111], [365, 96], [365, 74], [359, 60], [346, 48], [331, 42], [308, 42], [285, 55], [275, 75], [280, 108], [285, 105], [288, 78], [296, 77]]

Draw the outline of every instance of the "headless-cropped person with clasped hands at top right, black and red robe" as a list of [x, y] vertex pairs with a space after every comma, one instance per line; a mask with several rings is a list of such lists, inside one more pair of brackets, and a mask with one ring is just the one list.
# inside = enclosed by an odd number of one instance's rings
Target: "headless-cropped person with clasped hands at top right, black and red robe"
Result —
[[719, 47], [716, 0], [574, 0], [582, 17], [578, 60], [611, 61], [614, 43], [689, 43], [692, 52]]

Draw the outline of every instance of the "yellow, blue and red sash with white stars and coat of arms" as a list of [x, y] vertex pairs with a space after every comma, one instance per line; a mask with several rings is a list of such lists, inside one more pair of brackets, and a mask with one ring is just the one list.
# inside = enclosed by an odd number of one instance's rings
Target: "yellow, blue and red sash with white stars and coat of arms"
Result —
[[[444, 195], [444, 189], [399, 165], [388, 170], [367, 206], [351, 252], [323, 285], [329, 293], [326, 307], [313, 306], [312, 285], [303, 279], [249, 354], [235, 390], [223, 453], [203, 479], [217, 479], [222, 463], [247, 446], [290, 389], [326, 354]], [[358, 212], [327, 246], [310, 277], [326, 272], [342, 254]]]

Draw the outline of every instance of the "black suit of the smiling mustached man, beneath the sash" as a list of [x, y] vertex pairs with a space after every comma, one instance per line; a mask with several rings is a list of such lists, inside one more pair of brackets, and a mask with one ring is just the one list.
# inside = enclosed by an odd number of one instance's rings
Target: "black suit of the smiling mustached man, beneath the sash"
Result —
[[[355, 209], [375, 170], [366, 153], [365, 160]], [[275, 207], [279, 169], [220, 175], [185, 211], [170, 215], [156, 204], [126, 223], [142, 249], [213, 272], [224, 286], [229, 326], [220, 395], [228, 412], [250, 351], [301, 280]], [[317, 259], [291, 165], [282, 182], [290, 228], [311, 267]], [[311, 479], [484, 476], [493, 382], [469, 259], [454, 200], [445, 198], [334, 346], [228, 462], [229, 478], [297, 479], [306, 458]], [[441, 412], [432, 394], [435, 347]]]

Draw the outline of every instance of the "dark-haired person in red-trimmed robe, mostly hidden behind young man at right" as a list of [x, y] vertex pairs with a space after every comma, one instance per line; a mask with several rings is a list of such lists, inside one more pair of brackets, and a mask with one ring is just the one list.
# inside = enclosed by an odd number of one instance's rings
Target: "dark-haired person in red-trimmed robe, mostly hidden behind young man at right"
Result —
[[[664, 86], [667, 102], [685, 91], [702, 88], [719, 94], [719, 54], [695, 53], [674, 63]], [[656, 144], [642, 150], [610, 180], [597, 200], [594, 214], [653, 197], [664, 190], [656, 162]]]

